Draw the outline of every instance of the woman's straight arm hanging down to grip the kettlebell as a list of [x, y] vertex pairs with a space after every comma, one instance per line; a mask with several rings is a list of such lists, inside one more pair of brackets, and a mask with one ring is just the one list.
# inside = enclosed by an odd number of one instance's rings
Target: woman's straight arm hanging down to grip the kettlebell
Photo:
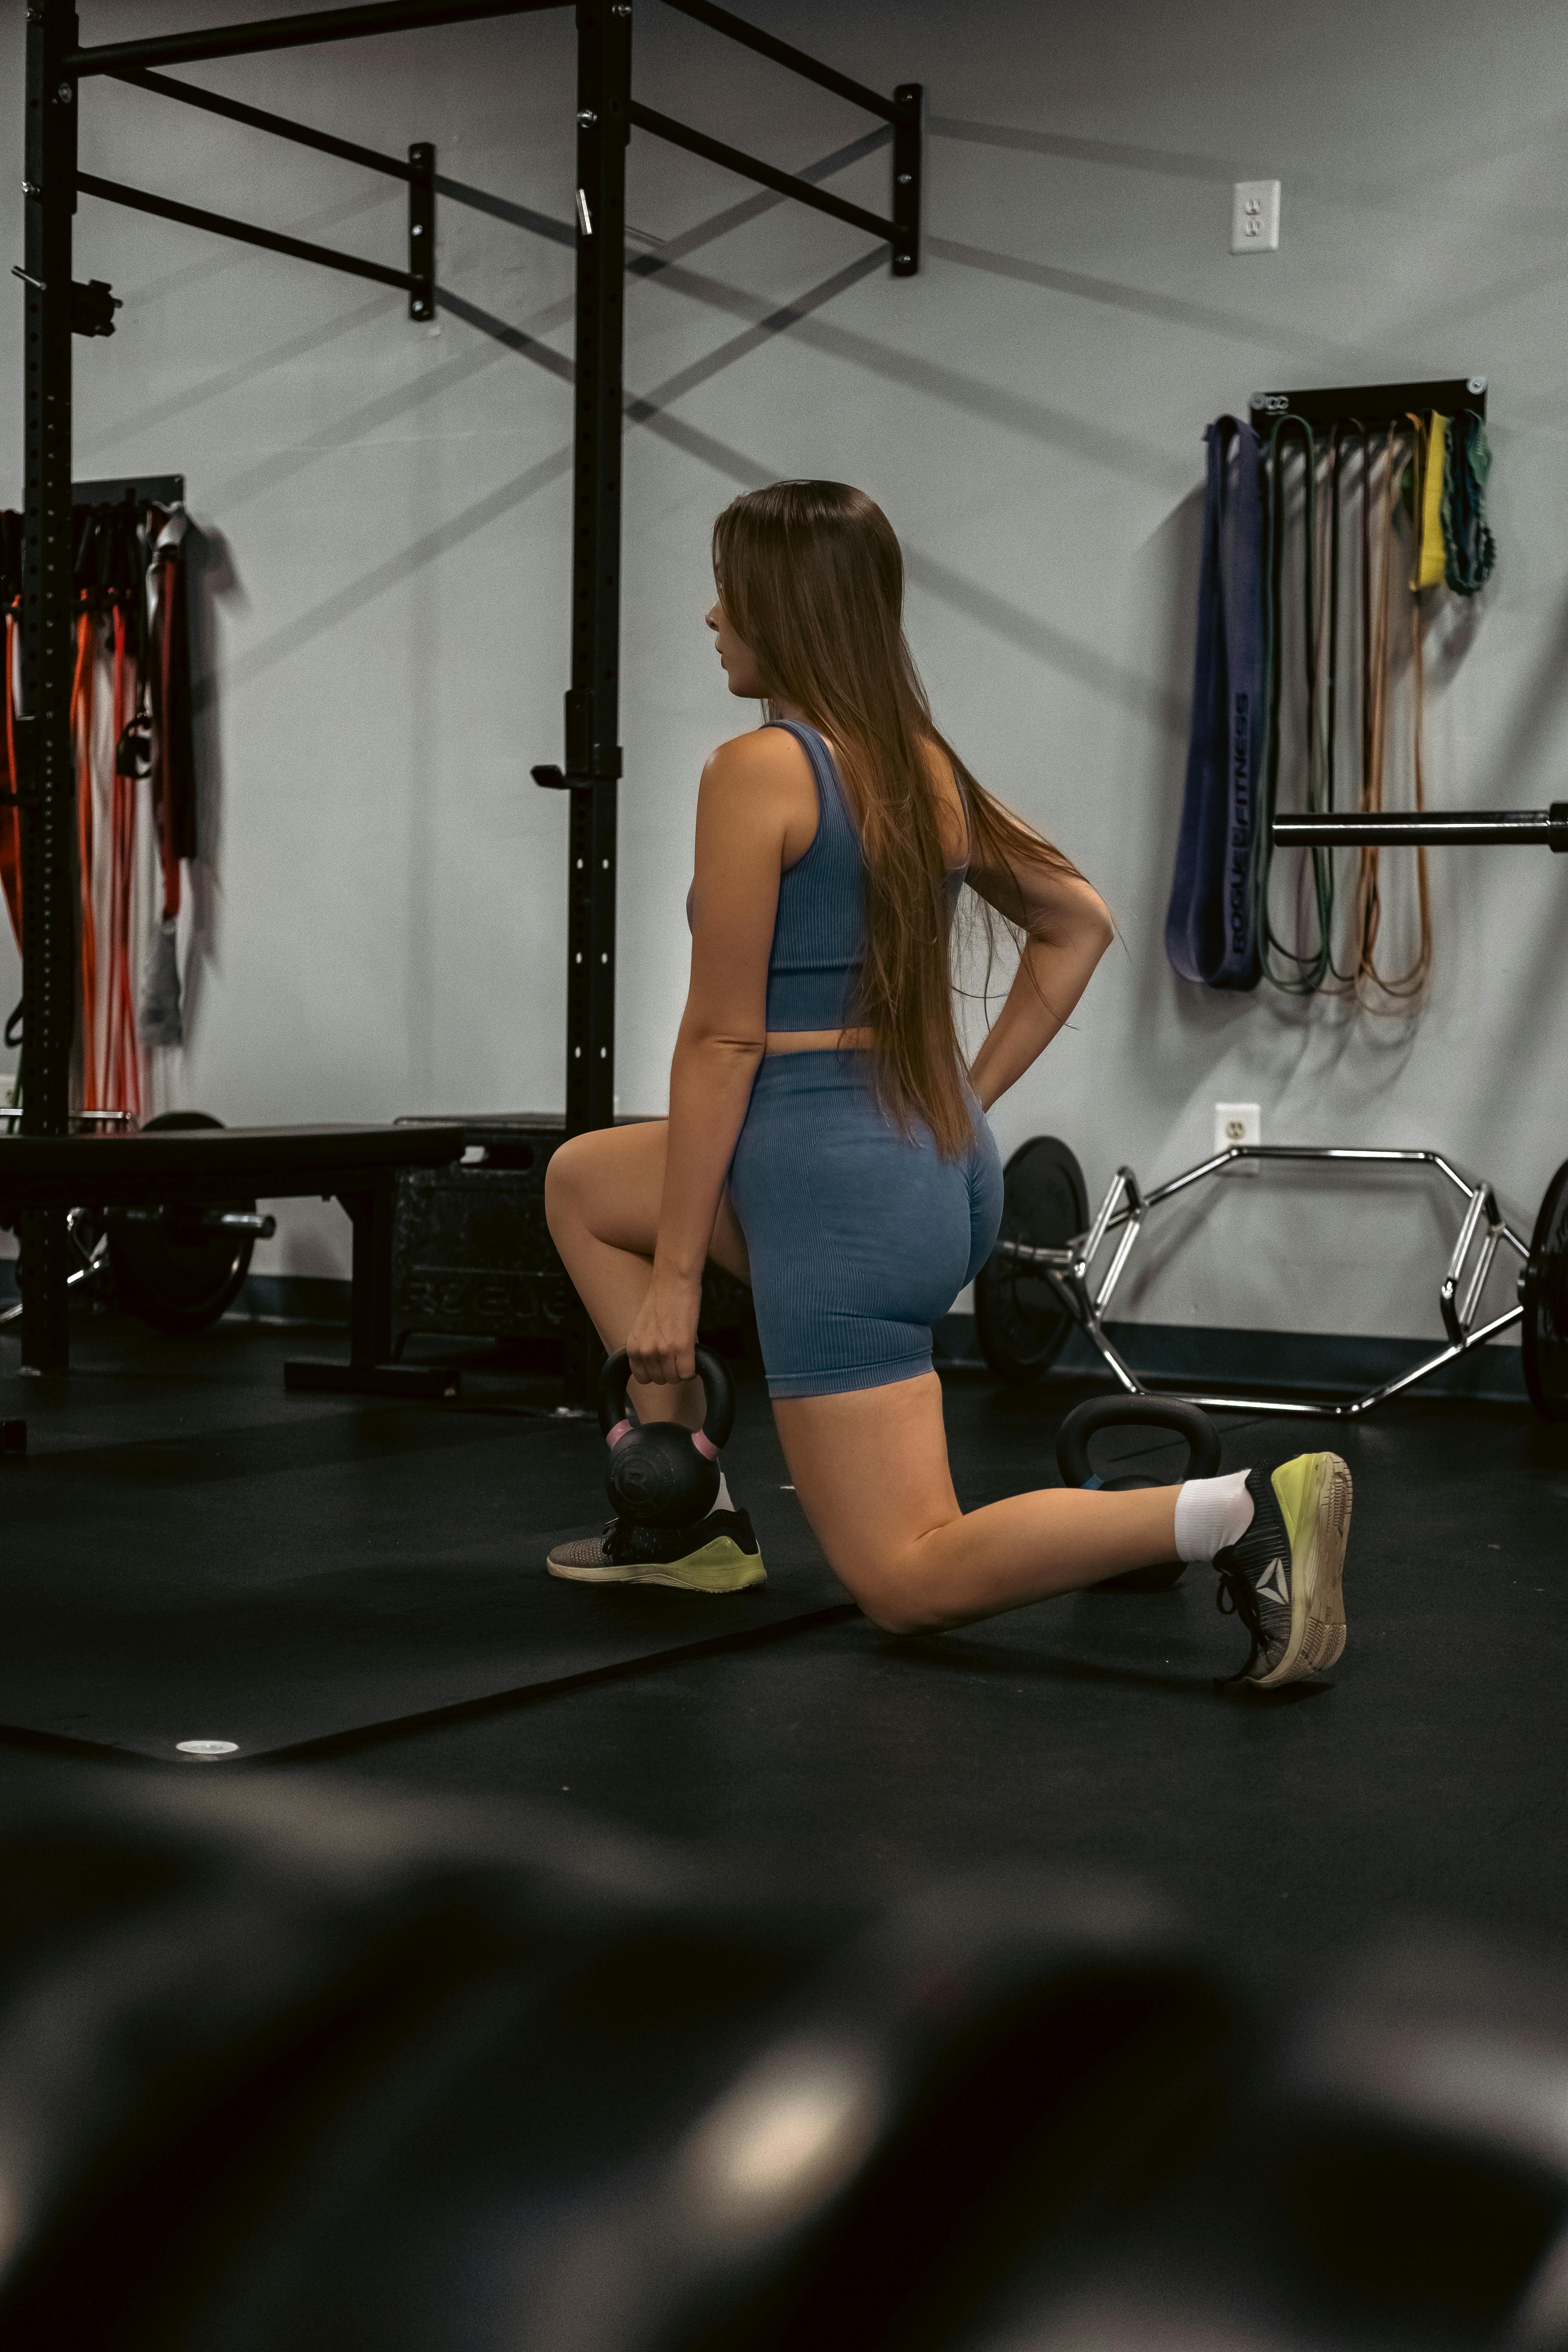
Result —
[[691, 988], [670, 1063], [654, 1279], [625, 1338], [635, 1381], [668, 1385], [696, 1371], [703, 1265], [766, 1040], [778, 875], [799, 790], [790, 753], [799, 760], [790, 736], [759, 729], [722, 743], [703, 769]]

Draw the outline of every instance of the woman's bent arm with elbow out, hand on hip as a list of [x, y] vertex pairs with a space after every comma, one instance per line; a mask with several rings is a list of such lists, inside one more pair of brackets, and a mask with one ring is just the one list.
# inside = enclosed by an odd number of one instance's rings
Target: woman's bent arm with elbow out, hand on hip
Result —
[[1079, 875], [1018, 863], [1001, 873], [971, 868], [969, 884], [1025, 931], [1013, 985], [969, 1070], [980, 1110], [990, 1110], [1065, 1025], [1117, 934], [1105, 901]]

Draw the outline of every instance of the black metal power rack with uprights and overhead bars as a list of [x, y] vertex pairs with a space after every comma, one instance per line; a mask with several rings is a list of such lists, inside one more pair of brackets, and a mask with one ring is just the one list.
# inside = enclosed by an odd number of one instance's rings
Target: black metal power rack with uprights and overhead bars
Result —
[[[524, 16], [571, 0], [374, 0], [313, 9], [205, 33], [80, 45], [73, 0], [28, 0], [26, 42], [26, 539], [24, 539], [24, 706], [16, 753], [24, 866], [24, 1051], [21, 1131], [63, 1136], [71, 1127], [71, 1042], [75, 1025], [75, 870], [71, 760], [71, 336], [113, 334], [113, 296], [99, 282], [73, 285], [78, 193], [129, 205], [155, 219], [237, 238], [322, 268], [400, 287], [409, 318], [437, 308], [435, 228], [440, 179], [435, 146], [416, 141], [407, 160], [378, 155], [329, 132], [242, 106], [158, 71], [216, 56], [252, 56], [376, 33], [407, 33], [480, 16]], [[571, 684], [564, 767], [534, 779], [571, 795], [567, 861], [567, 1122], [581, 1134], [609, 1127], [616, 1065], [616, 795], [621, 783], [621, 430], [625, 148], [632, 129], [811, 205], [891, 249], [893, 278], [919, 270], [922, 87], [889, 96], [776, 40], [712, 0], [663, 0], [712, 33], [891, 125], [891, 202], [875, 214], [792, 172], [710, 139], [632, 99], [632, 0], [576, 0], [576, 435], [571, 546]], [[181, 205], [143, 188], [78, 172], [78, 99], [87, 80], [120, 80], [183, 106], [226, 115], [299, 146], [383, 172], [409, 188], [407, 268], [364, 261], [287, 238], [249, 221]], [[38, 1371], [68, 1362], [66, 1211], [24, 1216], [24, 1362]], [[569, 1381], [588, 1376], [590, 1334], [569, 1338]]]

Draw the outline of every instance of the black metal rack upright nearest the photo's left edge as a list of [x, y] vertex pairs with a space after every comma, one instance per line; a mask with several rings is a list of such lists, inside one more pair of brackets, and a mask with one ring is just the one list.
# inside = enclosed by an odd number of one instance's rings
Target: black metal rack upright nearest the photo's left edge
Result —
[[[75, 212], [73, 0], [28, 0], [26, 536], [21, 560], [21, 1131], [71, 1127], [75, 1033], [75, 793], [71, 760], [71, 216]], [[66, 1214], [21, 1218], [21, 1362], [63, 1371]]]

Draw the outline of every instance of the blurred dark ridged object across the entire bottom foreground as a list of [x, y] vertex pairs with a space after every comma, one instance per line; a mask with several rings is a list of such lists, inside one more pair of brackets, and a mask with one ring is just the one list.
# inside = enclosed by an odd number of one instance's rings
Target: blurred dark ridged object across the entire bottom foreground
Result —
[[0, 2343], [1561, 2352], [1568, 1973], [1253, 2016], [1114, 1879], [85, 1773], [0, 1816]]

